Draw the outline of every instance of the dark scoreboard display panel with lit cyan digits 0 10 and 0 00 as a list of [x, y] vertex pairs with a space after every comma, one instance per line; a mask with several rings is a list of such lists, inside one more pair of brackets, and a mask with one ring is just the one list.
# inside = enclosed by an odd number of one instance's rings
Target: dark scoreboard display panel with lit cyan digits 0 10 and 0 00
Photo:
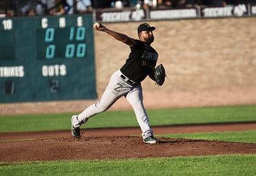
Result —
[[85, 58], [85, 35], [85, 27], [37, 29], [37, 58]]

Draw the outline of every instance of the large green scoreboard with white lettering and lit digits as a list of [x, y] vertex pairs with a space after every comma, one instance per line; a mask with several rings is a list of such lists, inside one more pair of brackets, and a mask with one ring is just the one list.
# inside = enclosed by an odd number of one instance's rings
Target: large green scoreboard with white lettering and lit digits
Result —
[[0, 19], [0, 103], [96, 98], [92, 14]]

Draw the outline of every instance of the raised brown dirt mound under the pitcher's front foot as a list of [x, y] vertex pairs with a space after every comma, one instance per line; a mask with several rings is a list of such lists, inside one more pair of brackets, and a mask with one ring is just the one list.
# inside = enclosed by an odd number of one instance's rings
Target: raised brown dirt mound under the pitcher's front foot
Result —
[[94, 136], [16, 141], [1, 144], [1, 162], [55, 161], [60, 159], [123, 159], [145, 157], [255, 154], [256, 144], [158, 138], [144, 144], [137, 136]]

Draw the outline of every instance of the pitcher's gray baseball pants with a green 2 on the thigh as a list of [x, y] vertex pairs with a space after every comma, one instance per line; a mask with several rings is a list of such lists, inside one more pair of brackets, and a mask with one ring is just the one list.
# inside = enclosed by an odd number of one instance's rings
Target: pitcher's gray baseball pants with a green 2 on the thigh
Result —
[[122, 96], [126, 97], [132, 108], [142, 130], [142, 138], [145, 139], [153, 136], [153, 131], [149, 125], [149, 118], [143, 104], [142, 86], [141, 84], [131, 85], [124, 79], [120, 70], [114, 72], [109, 80], [101, 99], [93, 105], [86, 108], [78, 115], [78, 120], [73, 120], [73, 126], [78, 128], [81, 123], [86, 123], [90, 117], [106, 111]]

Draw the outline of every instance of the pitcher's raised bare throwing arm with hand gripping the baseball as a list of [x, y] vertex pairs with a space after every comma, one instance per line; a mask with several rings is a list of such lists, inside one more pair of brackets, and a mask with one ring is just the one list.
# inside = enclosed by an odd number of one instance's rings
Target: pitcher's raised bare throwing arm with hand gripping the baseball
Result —
[[123, 43], [126, 43], [126, 45], [129, 45], [129, 46], [134, 46], [135, 45], [135, 40], [133, 38], [130, 38], [130, 37], [128, 37], [127, 35], [125, 35], [123, 33], [119, 33], [119, 32], [116, 32], [114, 30], [109, 30], [101, 23], [94, 24], [93, 29], [106, 32], [109, 35], [111, 35], [112, 37], [116, 38], [116, 40], [119, 40]]

